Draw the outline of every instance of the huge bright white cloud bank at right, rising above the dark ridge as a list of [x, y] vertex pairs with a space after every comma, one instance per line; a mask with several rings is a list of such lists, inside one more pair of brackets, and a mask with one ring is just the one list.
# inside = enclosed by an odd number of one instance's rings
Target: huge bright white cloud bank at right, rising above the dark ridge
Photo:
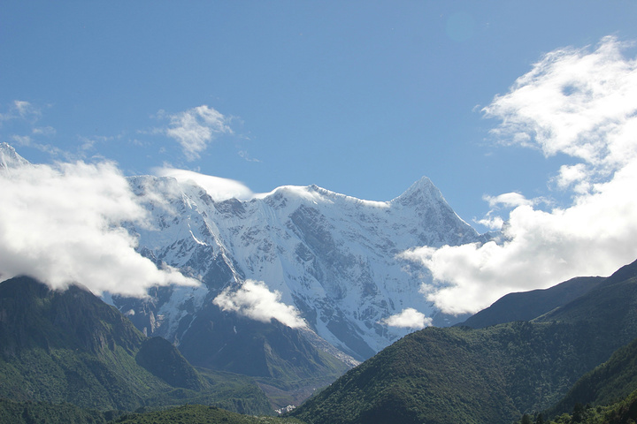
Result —
[[637, 258], [637, 61], [626, 47], [606, 37], [552, 51], [483, 110], [502, 121], [493, 133], [503, 145], [564, 155], [550, 183], [572, 201], [541, 210], [519, 193], [487, 196], [512, 208], [483, 220], [502, 225], [502, 242], [405, 252], [431, 270], [422, 292], [443, 312], [477, 312], [508, 292], [609, 275]]

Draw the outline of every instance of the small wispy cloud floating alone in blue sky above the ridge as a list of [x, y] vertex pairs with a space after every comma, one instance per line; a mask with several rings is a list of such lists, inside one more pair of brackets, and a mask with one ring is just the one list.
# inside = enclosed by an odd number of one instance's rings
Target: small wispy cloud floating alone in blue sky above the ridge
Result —
[[205, 104], [173, 115], [160, 110], [159, 116], [167, 117], [170, 124], [158, 132], [177, 140], [188, 161], [198, 159], [217, 135], [233, 133], [228, 125], [230, 119]]

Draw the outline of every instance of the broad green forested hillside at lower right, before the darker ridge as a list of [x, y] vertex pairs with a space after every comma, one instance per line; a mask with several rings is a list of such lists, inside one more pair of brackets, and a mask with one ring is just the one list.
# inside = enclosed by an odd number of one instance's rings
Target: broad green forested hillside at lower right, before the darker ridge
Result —
[[637, 278], [611, 276], [533, 322], [423, 329], [292, 414], [314, 423], [510, 422], [555, 404], [637, 337], [636, 301]]

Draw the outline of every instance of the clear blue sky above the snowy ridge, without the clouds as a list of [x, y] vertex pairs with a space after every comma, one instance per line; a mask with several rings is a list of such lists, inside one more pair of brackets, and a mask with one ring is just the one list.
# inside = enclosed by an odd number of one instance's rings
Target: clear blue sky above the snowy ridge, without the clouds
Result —
[[[7, 1], [0, 113], [21, 101], [37, 115], [4, 122], [0, 140], [35, 163], [167, 165], [254, 192], [388, 201], [427, 176], [471, 222], [484, 194], [558, 195], [547, 180], [561, 163], [495, 146], [480, 109], [553, 49], [637, 40], [636, 19], [625, 1]], [[188, 160], [157, 129], [202, 105], [232, 133]]]

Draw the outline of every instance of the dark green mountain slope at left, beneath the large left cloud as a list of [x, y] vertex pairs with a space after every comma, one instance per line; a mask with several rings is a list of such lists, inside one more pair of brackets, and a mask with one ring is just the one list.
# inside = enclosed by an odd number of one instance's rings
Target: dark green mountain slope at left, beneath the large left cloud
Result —
[[[51, 291], [27, 276], [0, 284], [0, 349], [0, 398], [127, 411], [225, 401], [215, 393], [219, 382], [199, 375], [173, 345], [144, 337], [78, 286]], [[246, 412], [271, 411], [254, 382], [234, 396], [241, 392]]]

